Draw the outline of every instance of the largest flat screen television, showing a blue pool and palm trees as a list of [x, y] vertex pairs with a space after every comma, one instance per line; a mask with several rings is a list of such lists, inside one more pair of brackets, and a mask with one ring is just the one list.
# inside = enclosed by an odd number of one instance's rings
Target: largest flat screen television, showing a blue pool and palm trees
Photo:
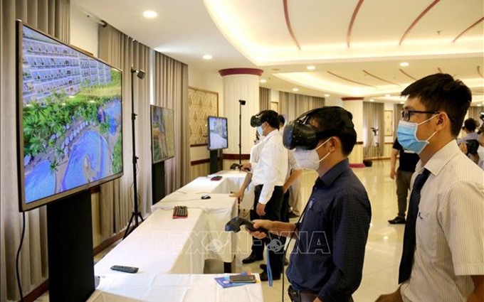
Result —
[[20, 210], [122, 176], [122, 72], [17, 21]]

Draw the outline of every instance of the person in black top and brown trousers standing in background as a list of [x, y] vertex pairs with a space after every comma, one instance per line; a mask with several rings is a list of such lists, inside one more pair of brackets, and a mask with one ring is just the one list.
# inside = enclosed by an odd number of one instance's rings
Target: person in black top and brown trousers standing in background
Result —
[[[399, 168], [396, 170], [396, 156], [399, 157]], [[396, 196], [399, 205], [398, 215], [388, 222], [391, 225], [404, 224], [406, 212], [406, 200], [409, 196], [410, 180], [415, 172], [415, 166], [419, 161], [419, 155], [414, 151], [405, 150], [399, 140], [395, 139], [391, 149], [390, 178], [396, 178]]]

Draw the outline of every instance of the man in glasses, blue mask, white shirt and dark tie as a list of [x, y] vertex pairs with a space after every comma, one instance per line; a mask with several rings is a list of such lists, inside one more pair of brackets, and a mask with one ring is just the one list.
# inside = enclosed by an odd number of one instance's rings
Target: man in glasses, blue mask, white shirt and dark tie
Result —
[[400, 286], [377, 301], [482, 302], [484, 171], [456, 143], [470, 90], [438, 73], [401, 95], [408, 99], [397, 137], [420, 161], [412, 177]]

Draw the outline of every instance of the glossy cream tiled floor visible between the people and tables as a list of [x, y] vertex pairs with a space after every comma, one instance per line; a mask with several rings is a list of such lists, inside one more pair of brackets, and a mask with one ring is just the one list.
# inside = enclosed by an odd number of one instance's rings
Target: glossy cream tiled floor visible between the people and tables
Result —
[[[387, 220], [394, 218], [397, 212], [396, 185], [394, 180], [389, 177], [389, 168], [389, 161], [374, 161], [372, 167], [354, 169], [354, 172], [367, 188], [372, 203], [372, 224], [364, 259], [363, 279], [362, 284], [353, 295], [355, 302], [373, 302], [381, 293], [389, 293], [397, 287], [404, 225], [389, 225], [387, 222]], [[315, 178], [315, 172], [302, 174], [303, 200], [307, 200]], [[239, 235], [238, 249], [241, 252], [236, 255], [233, 272], [261, 272], [258, 266], [265, 263], [263, 261], [242, 264], [242, 259], [250, 254], [251, 238], [246, 232], [240, 232]], [[293, 242], [290, 244], [290, 250], [292, 247]], [[102, 255], [98, 255], [97, 259], [100, 259], [99, 257], [102, 257]], [[223, 272], [223, 264], [220, 261], [206, 261], [205, 273], [219, 274], [221, 272]], [[282, 280], [274, 281], [272, 287], [269, 287], [267, 282], [263, 282], [262, 287], [265, 302], [282, 301]], [[287, 291], [287, 287], [288, 281], [285, 279], [285, 291]], [[48, 294], [37, 301], [47, 302]], [[284, 301], [290, 301], [286, 293]]]

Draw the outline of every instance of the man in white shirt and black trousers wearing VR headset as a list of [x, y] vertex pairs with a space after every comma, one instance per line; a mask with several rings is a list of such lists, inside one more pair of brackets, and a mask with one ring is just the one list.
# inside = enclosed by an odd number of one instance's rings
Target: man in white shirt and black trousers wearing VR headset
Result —
[[[263, 136], [257, 163], [243, 164], [243, 170], [251, 169], [252, 171], [254, 205], [251, 211], [251, 220], [280, 221], [283, 205], [283, 184], [288, 172], [288, 150], [284, 148], [283, 138], [278, 133], [278, 113], [273, 110], [263, 110], [251, 118], [251, 126], [257, 128], [259, 136]], [[270, 240], [253, 238], [251, 255], [243, 259], [243, 263], [262, 260], [264, 244], [269, 243]], [[280, 243], [280, 249], [277, 249], [272, 242], [268, 252], [268, 263], [273, 280], [280, 279], [283, 271], [282, 252], [282, 243]], [[263, 271], [261, 280], [268, 280], [267, 271]]]

